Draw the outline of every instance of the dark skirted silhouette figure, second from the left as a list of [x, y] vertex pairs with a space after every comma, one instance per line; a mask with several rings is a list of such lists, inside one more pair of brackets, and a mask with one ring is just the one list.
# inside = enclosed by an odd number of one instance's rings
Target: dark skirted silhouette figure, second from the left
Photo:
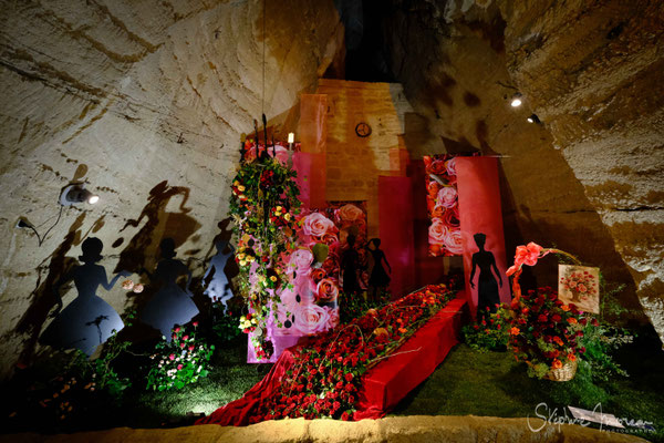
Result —
[[[159, 244], [162, 250], [162, 260], [157, 264], [154, 274], [145, 272], [152, 282], [159, 282], [160, 287], [157, 293], [147, 302], [143, 310], [141, 320], [158, 329], [166, 341], [170, 342], [170, 330], [175, 324], [185, 324], [198, 313], [196, 303], [191, 300], [189, 284], [191, 282], [191, 271], [180, 260], [175, 258], [175, 240], [165, 238]], [[177, 285], [179, 276], [187, 276], [186, 289], [183, 290]]]

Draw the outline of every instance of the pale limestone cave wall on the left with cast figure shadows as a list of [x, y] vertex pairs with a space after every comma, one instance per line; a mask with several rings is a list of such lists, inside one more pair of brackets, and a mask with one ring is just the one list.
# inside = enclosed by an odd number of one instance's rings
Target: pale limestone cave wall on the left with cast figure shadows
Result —
[[[279, 135], [297, 127], [299, 94], [315, 90], [343, 27], [332, 1], [268, 2], [266, 12], [264, 113]], [[204, 270], [240, 135], [262, 111], [263, 13], [255, 1], [61, 0], [3, 1], [0, 16], [7, 375], [30, 363], [51, 288], [85, 237], [104, 241], [108, 274], [151, 268], [164, 237]], [[65, 208], [41, 246], [15, 228], [27, 217], [44, 236], [71, 181], [89, 181], [100, 203]], [[66, 306], [75, 290], [65, 292]], [[98, 295], [121, 313], [139, 297], [120, 287]]]

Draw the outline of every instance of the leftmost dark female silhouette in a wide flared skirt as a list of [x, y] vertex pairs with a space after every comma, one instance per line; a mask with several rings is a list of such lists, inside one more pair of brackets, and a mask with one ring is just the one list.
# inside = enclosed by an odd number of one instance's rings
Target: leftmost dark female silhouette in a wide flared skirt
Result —
[[[103, 247], [104, 244], [98, 238], [86, 238], [81, 245], [83, 255], [79, 257], [84, 265], [74, 267], [55, 284], [53, 288], [58, 300], [58, 308], [53, 313], [55, 319], [42, 333], [42, 343], [62, 349], [77, 348], [91, 356], [97, 346], [124, 328], [115, 309], [97, 297], [95, 292], [100, 285], [104, 289], [111, 290], [120, 277], [127, 277], [132, 274], [121, 271], [108, 282], [106, 269], [101, 265], [95, 265], [102, 259]], [[61, 311], [60, 287], [72, 279], [79, 297]]]

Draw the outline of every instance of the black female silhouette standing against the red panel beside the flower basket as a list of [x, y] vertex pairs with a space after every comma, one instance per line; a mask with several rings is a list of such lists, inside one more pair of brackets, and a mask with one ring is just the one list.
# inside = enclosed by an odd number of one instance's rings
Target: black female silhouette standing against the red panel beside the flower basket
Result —
[[[475, 234], [473, 236], [475, 243], [479, 248], [478, 253], [473, 254], [473, 270], [470, 271], [470, 287], [475, 289], [475, 269], [479, 268], [479, 278], [477, 279], [477, 321], [480, 319], [488, 318], [488, 312], [496, 312], [496, 305], [500, 303], [500, 296], [498, 293], [498, 285], [491, 268], [498, 276], [500, 287], [502, 287], [502, 278], [498, 268], [496, 267], [496, 258], [494, 254], [485, 250], [485, 244], [487, 241], [486, 234]], [[488, 311], [487, 311], [488, 308]]]

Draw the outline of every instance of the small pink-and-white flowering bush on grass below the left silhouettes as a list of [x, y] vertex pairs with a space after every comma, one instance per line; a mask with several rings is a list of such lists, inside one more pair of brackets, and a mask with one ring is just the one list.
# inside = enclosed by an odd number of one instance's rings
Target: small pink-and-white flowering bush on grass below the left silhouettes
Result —
[[183, 327], [173, 330], [170, 342], [160, 341], [157, 352], [151, 356], [156, 365], [147, 374], [147, 389], [164, 391], [181, 389], [185, 384], [195, 383], [201, 377], [207, 377], [207, 367], [212, 357], [215, 346], [207, 346], [196, 340], [196, 327], [193, 332]]

